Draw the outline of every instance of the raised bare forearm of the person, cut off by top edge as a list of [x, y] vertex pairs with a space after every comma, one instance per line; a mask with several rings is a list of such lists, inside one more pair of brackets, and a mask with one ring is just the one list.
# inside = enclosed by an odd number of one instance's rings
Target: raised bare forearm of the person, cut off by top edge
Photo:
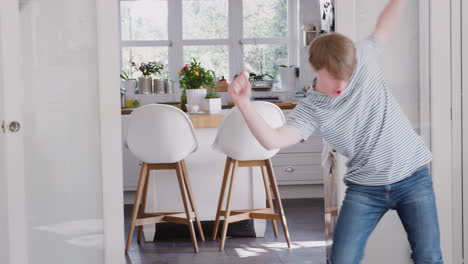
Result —
[[407, 0], [390, 0], [380, 14], [373, 35], [376, 36], [382, 44], [385, 44], [395, 31], [406, 6], [406, 1]]

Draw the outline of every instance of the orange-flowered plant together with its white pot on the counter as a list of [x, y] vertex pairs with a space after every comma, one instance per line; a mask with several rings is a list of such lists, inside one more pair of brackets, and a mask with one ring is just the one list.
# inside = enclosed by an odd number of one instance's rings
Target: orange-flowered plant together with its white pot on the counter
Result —
[[[207, 93], [205, 87], [214, 87], [213, 80], [214, 76], [204, 69], [196, 59], [192, 59], [190, 64], [186, 64], [179, 71], [179, 84], [180, 88], [184, 89], [182, 97], [186, 94], [187, 104], [201, 106]], [[182, 106], [184, 106], [183, 102]]]

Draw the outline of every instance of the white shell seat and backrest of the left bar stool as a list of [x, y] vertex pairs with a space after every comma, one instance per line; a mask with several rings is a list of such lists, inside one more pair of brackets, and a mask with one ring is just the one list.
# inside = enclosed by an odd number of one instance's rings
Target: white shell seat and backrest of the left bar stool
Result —
[[126, 144], [139, 160], [148, 164], [181, 161], [198, 147], [188, 116], [163, 104], [145, 105], [132, 112]]

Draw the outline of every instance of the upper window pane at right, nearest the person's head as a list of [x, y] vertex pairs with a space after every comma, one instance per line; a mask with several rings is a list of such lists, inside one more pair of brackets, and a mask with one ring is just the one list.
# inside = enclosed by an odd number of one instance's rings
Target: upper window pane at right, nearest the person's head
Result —
[[288, 35], [288, 0], [243, 0], [245, 38]]

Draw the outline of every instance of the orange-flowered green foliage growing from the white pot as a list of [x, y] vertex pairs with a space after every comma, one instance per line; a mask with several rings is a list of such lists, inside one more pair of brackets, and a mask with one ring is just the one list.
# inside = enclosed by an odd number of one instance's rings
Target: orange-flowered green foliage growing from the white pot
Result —
[[210, 71], [201, 67], [201, 63], [192, 59], [179, 71], [180, 88], [202, 89], [204, 86], [214, 87], [214, 76]]

